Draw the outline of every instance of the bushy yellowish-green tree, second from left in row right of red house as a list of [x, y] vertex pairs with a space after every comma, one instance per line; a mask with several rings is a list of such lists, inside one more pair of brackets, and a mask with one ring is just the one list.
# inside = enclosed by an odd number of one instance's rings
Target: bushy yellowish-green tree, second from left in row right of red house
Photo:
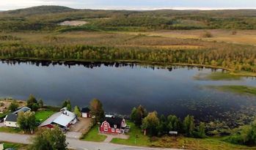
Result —
[[158, 134], [159, 119], [157, 112], [148, 113], [145, 119], [142, 120], [142, 129], [147, 131], [147, 134], [154, 136]]

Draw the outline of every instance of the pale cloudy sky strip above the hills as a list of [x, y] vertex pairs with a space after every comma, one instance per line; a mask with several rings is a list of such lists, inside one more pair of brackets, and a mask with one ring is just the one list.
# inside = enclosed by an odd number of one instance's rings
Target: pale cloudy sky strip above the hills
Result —
[[256, 9], [256, 0], [0, 0], [0, 10], [15, 10], [39, 5], [104, 10], [215, 10]]

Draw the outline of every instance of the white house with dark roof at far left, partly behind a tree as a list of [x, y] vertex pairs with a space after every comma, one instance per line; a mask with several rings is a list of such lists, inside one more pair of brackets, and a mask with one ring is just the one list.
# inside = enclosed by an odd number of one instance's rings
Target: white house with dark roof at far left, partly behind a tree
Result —
[[18, 108], [15, 110], [15, 112], [8, 114], [4, 118], [4, 125], [7, 127], [18, 127], [17, 124], [17, 119], [18, 119], [18, 113], [24, 112], [26, 113], [27, 111], [30, 111], [30, 108], [23, 107], [23, 108]]

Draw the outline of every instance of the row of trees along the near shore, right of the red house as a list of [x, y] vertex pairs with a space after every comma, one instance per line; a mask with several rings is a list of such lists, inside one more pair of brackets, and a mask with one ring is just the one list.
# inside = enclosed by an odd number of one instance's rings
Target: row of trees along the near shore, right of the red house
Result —
[[147, 113], [147, 110], [142, 105], [139, 105], [131, 111], [130, 119], [134, 121], [136, 126], [141, 127], [146, 135], [150, 136], [169, 135], [176, 132], [176, 135], [183, 134], [187, 137], [206, 137], [205, 124], [201, 122], [196, 125], [194, 116], [188, 115], [183, 121], [174, 115], [161, 115], [158, 117], [156, 111]]

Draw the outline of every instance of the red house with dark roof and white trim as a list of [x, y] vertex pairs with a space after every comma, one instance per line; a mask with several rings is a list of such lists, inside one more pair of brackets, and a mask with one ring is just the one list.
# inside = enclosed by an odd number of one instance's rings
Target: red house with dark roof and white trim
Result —
[[128, 128], [125, 123], [125, 119], [121, 119], [114, 116], [105, 117], [99, 127], [100, 132], [109, 134], [124, 134]]

